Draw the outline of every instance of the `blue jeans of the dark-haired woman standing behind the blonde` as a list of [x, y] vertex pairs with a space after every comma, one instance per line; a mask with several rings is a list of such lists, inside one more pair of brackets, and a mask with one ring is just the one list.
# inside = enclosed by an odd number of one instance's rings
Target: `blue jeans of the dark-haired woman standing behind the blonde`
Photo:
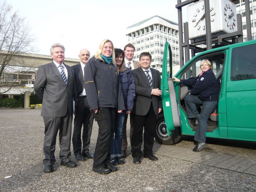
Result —
[[121, 157], [122, 147], [122, 129], [125, 120], [125, 111], [122, 113], [116, 112], [115, 130], [111, 133], [110, 143], [110, 158]]

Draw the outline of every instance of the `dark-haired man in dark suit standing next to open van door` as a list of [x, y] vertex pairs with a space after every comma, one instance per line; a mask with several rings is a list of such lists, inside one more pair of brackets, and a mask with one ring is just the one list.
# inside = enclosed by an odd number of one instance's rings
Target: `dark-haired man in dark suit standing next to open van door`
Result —
[[[135, 79], [135, 100], [133, 108], [134, 129], [131, 135], [132, 157], [134, 163], [141, 163], [142, 155], [150, 160], [158, 160], [152, 154], [154, 145], [154, 127], [156, 116], [162, 111], [160, 95], [160, 72], [150, 68], [151, 54], [140, 54], [140, 68], [134, 69], [132, 74]], [[144, 127], [144, 135], [143, 135]], [[144, 138], [144, 150], [141, 145]]]

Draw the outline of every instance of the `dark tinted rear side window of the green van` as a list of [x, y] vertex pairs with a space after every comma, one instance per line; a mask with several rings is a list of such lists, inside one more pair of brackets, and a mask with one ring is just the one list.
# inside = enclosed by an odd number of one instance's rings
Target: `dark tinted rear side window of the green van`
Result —
[[232, 49], [230, 80], [256, 79], [256, 44]]

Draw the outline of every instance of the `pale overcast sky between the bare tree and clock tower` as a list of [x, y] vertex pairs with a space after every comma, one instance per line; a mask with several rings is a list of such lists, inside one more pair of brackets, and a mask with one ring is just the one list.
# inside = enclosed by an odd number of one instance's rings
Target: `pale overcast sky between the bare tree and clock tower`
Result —
[[65, 57], [70, 58], [78, 58], [81, 48], [95, 54], [103, 39], [110, 39], [115, 47], [123, 49], [128, 41], [125, 29], [154, 15], [178, 23], [177, 0], [7, 0], [7, 3], [26, 17], [36, 39], [35, 53], [49, 55], [53, 43], [62, 43]]

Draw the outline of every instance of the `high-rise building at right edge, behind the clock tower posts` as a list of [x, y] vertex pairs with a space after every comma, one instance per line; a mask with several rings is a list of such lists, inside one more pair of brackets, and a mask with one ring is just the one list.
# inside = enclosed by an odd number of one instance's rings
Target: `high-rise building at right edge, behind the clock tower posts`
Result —
[[[256, 0], [249, 0], [250, 3], [250, 21], [251, 21], [251, 31], [252, 40], [256, 39]], [[243, 26], [243, 38], [247, 41], [247, 31], [246, 31], [246, 18], [245, 18], [245, 3], [244, 0], [239, 0], [236, 4], [236, 13], [240, 13], [242, 16], [242, 26]]]

